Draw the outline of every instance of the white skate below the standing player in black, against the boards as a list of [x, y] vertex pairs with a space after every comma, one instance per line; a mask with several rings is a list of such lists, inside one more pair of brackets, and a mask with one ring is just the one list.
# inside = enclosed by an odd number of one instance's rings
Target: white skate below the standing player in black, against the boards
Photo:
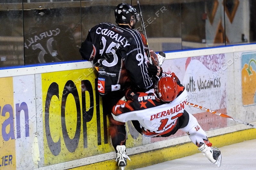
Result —
[[125, 166], [127, 165], [127, 158], [131, 161], [131, 159], [126, 155], [126, 147], [125, 145], [117, 145], [117, 165], [121, 168], [121, 170], [124, 170]]

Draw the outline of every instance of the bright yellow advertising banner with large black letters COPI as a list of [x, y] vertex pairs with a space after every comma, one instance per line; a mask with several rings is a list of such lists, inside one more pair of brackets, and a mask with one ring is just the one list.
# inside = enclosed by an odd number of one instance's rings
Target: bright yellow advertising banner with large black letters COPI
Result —
[[[41, 74], [44, 165], [113, 151], [94, 69]], [[103, 123], [104, 122], [104, 123]]]

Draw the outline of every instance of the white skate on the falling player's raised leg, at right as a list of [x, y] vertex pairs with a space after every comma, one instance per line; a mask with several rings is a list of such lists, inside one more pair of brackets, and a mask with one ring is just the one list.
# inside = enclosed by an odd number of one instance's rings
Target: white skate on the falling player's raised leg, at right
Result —
[[205, 143], [198, 148], [206, 158], [208, 158], [212, 163], [218, 167], [221, 164], [221, 154], [220, 150], [216, 147], [209, 147]]

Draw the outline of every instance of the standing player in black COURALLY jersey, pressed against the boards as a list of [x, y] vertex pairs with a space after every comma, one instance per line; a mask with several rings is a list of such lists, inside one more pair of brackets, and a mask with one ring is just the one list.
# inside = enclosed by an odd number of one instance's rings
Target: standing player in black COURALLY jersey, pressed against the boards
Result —
[[[79, 52], [83, 59], [93, 60], [98, 70], [103, 114], [109, 115], [111, 140], [118, 153], [117, 159], [120, 159], [119, 153], [125, 151], [126, 136], [122, 135], [126, 134], [125, 123], [115, 121], [111, 109], [125, 95], [124, 89], [130, 86], [137, 89], [152, 87], [151, 77], [161, 75], [162, 69], [148, 64], [145, 37], [133, 29], [139, 21], [136, 9], [130, 4], [119, 4], [115, 18], [117, 26], [100, 23], [91, 28]], [[117, 148], [118, 145], [121, 147]]]

